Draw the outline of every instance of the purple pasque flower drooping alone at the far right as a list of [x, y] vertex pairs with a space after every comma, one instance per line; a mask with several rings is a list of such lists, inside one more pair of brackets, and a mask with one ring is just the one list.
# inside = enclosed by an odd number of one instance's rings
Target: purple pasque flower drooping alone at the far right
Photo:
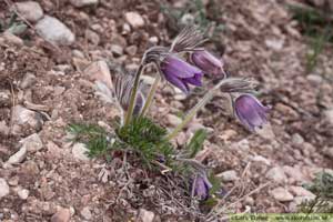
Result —
[[252, 132], [268, 122], [269, 108], [252, 94], [238, 97], [234, 101], [234, 111], [241, 123]]

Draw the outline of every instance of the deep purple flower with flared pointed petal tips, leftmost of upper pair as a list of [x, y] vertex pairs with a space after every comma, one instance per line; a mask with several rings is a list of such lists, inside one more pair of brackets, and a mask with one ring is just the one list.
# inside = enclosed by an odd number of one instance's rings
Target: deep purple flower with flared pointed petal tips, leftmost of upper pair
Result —
[[161, 62], [161, 71], [165, 79], [184, 93], [189, 93], [189, 84], [201, 87], [202, 71], [174, 54], [169, 54]]

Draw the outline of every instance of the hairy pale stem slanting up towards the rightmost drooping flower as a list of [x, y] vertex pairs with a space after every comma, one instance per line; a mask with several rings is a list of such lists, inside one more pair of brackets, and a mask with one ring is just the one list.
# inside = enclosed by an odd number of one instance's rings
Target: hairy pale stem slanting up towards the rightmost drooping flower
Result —
[[167, 140], [173, 139], [192, 120], [196, 112], [213, 98], [214, 93], [220, 89], [223, 82], [224, 79], [221, 80], [213, 89], [205, 93], [205, 95], [190, 110], [190, 112], [186, 114], [183, 121], [179, 125], [176, 125], [176, 128], [174, 128], [169, 135], [167, 135]]

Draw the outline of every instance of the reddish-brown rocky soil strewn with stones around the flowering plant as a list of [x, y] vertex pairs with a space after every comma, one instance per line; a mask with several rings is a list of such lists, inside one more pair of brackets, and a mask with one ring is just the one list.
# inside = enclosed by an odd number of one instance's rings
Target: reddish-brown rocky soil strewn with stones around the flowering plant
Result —
[[[315, 198], [302, 188], [316, 172], [333, 172], [332, 46], [306, 72], [309, 46], [287, 10], [291, 1], [203, 1], [208, 18], [223, 24], [206, 47], [223, 54], [230, 75], [253, 77], [259, 98], [271, 105], [272, 129], [251, 134], [216, 95], [175, 143], [195, 129], [209, 140], [200, 159], [228, 193], [218, 211], [295, 212]], [[108, 77], [105, 61], [129, 71], [145, 49], [175, 34], [170, 6], [186, 1], [39, 0], [0, 2], [0, 21], [18, 12], [26, 29], [0, 33], [0, 221], [205, 221], [204, 209], [163, 190], [165, 176], [133, 164], [124, 180], [122, 160], [90, 160], [68, 140], [72, 122], [108, 127], [119, 110], [105, 104], [93, 80]], [[216, 12], [218, 11], [218, 12]], [[180, 22], [195, 19], [189, 11]], [[112, 74], [111, 70], [111, 74]], [[149, 69], [145, 81], [155, 73]], [[159, 88], [151, 117], [172, 128], [195, 104], [172, 87]], [[167, 117], [167, 118], [165, 118]], [[169, 181], [170, 182], [170, 181]], [[168, 195], [171, 193], [171, 195]]]

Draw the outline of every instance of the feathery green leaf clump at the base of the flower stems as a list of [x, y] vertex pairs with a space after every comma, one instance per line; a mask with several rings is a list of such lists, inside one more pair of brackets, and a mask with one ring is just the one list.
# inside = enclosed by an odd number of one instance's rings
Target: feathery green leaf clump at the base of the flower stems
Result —
[[133, 151], [145, 165], [151, 167], [157, 160], [171, 164], [174, 154], [173, 147], [164, 139], [167, 130], [148, 118], [134, 118], [130, 124], [117, 129], [114, 134], [99, 125], [83, 123], [70, 124], [68, 131], [73, 141], [87, 145], [90, 158], [110, 159], [111, 151]]

